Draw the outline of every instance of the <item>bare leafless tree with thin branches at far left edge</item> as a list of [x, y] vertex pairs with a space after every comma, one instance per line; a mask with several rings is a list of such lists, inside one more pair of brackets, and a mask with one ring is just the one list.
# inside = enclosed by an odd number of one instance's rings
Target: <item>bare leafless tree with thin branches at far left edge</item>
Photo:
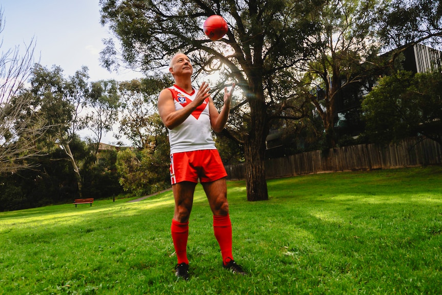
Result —
[[[0, 7], [0, 34], [4, 27]], [[39, 154], [35, 141], [49, 128], [29, 113], [31, 96], [21, 93], [31, 74], [34, 50], [33, 38], [23, 54], [19, 46], [3, 51], [3, 39], [0, 42], [0, 173], [31, 167], [26, 160]]]

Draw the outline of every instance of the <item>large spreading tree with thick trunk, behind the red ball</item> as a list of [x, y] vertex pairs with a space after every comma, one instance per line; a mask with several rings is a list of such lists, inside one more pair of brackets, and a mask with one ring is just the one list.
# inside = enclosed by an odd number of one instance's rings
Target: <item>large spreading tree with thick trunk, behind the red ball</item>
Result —
[[[118, 36], [127, 66], [149, 73], [164, 68], [174, 53], [183, 51], [193, 59], [197, 81], [200, 74], [213, 72], [221, 72], [224, 85], [236, 81], [244, 97], [231, 111], [241, 106], [247, 111], [241, 124], [245, 132], [236, 136], [245, 150], [247, 199], [267, 200], [264, 161], [269, 123], [283, 116], [285, 109], [293, 110], [293, 118], [302, 116], [296, 73], [291, 69], [313, 52], [306, 40], [317, 29], [312, 12], [323, 2], [101, 0], [100, 4], [102, 23]], [[224, 16], [230, 28], [218, 42], [208, 40], [202, 30], [205, 18], [213, 14]], [[106, 45], [103, 64], [118, 67], [115, 44], [107, 40]], [[285, 91], [278, 91], [280, 85], [286, 86]]]

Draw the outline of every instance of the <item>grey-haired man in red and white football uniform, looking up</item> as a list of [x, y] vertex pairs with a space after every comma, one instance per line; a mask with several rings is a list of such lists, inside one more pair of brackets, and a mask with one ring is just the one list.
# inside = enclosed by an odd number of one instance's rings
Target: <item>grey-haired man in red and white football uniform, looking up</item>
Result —
[[175, 85], [163, 89], [158, 97], [158, 111], [169, 129], [170, 179], [175, 199], [172, 219], [172, 240], [178, 263], [175, 275], [189, 279], [187, 238], [193, 193], [198, 182], [202, 184], [213, 213], [213, 230], [223, 257], [223, 267], [234, 273], [245, 274], [232, 256], [232, 225], [227, 202], [226, 170], [215, 148], [211, 129], [220, 132], [229, 116], [230, 92], [224, 89], [224, 107], [218, 113], [210, 97], [208, 84], [198, 90], [191, 85], [193, 67], [184, 53], [178, 52], [169, 65]]

